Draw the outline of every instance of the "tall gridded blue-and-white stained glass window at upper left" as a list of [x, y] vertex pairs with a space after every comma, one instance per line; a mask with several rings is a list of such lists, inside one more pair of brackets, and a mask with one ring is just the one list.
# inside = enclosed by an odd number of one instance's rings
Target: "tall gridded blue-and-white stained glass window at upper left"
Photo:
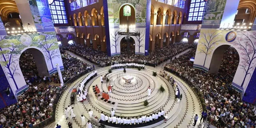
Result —
[[52, 20], [54, 24], [67, 24], [66, 9], [64, 6], [64, 0], [54, 0], [49, 4]]

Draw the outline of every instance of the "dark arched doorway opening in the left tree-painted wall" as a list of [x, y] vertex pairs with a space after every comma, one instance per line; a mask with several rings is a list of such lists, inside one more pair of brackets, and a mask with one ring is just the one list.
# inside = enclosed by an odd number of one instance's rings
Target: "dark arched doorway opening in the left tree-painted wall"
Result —
[[44, 55], [36, 48], [28, 48], [22, 52], [19, 64], [27, 84], [27, 80], [33, 84], [39, 80], [39, 76], [49, 76]]

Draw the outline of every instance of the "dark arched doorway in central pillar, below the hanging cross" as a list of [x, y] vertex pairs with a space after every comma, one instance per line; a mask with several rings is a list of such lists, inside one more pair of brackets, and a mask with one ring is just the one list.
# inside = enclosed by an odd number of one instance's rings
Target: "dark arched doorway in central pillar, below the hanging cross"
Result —
[[121, 54], [135, 54], [135, 41], [132, 37], [122, 38], [120, 42]]

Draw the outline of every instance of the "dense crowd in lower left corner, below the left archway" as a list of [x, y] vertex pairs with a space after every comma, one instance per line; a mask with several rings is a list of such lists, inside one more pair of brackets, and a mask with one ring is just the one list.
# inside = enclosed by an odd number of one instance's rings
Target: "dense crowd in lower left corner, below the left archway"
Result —
[[60, 93], [58, 86], [29, 86], [18, 97], [18, 103], [0, 110], [1, 128], [30, 128], [50, 118], [54, 100]]

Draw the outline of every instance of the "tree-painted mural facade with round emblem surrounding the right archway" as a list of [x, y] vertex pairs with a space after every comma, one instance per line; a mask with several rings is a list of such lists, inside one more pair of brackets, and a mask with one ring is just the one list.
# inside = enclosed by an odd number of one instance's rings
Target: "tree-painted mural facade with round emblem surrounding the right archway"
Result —
[[239, 65], [232, 82], [238, 92], [244, 94], [256, 63], [256, 31], [229, 31], [202, 29], [196, 50], [194, 68], [209, 70], [213, 52], [222, 45], [234, 47], [239, 54]]

